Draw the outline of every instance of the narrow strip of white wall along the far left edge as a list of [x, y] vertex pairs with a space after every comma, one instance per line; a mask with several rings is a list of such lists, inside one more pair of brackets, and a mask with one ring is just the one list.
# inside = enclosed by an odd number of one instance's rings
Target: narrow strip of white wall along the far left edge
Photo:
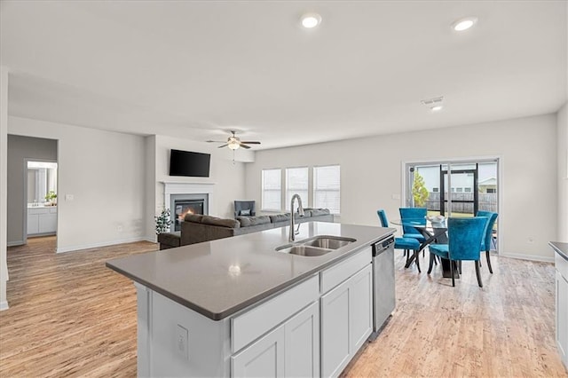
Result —
[[8, 68], [0, 67], [0, 310], [8, 308], [6, 299], [6, 204], [8, 177]]

